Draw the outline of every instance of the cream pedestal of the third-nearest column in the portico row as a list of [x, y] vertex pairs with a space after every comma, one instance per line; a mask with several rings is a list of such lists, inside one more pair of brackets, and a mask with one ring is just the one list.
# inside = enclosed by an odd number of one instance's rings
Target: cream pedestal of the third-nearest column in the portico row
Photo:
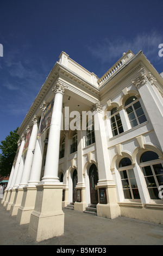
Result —
[[10, 208], [10, 215], [11, 216], [17, 215], [18, 208], [20, 208], [20, 206], [21, 206], [22, 197], [23, 197], [23, 189], [22, 188], [16, 188], [15, 189], [14, 203], [11, 205], [11, 208]]

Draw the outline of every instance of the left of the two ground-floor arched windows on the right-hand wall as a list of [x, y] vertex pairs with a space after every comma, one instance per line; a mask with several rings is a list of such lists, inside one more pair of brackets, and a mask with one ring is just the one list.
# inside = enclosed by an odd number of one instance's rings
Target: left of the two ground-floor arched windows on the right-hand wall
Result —
[[124, 198], [140, 199], [134, 170], [131, 166], [131, 160], [128, 157], [124, 157], [119, 163], [118, 170], [121, 175]]

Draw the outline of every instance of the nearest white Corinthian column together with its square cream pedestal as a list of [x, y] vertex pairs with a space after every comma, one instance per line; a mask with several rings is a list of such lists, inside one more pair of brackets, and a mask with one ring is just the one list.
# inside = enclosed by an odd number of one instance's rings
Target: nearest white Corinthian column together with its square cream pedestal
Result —
[[29, 222], [29, 235], [37, 242], [64, 233], [63, 186], [58, 178], [58, 162], [62, 97], [65, 92], [65, 86], [57, 82], [52, 91], [55, 94], [55, 98], [49, 128], [45, 174], [41, 184], [36, 185], [35, 209], [30, 215]]

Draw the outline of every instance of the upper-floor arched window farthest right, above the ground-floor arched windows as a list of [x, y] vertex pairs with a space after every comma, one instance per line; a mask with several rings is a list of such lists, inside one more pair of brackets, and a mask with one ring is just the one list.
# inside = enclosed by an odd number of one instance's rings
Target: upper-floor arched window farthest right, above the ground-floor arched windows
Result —
[[131, 124], [131, 127], [142, 124], [147, 121], [145, 113], [137, 97], [131, 96], [125, 102], [126, 111]]

